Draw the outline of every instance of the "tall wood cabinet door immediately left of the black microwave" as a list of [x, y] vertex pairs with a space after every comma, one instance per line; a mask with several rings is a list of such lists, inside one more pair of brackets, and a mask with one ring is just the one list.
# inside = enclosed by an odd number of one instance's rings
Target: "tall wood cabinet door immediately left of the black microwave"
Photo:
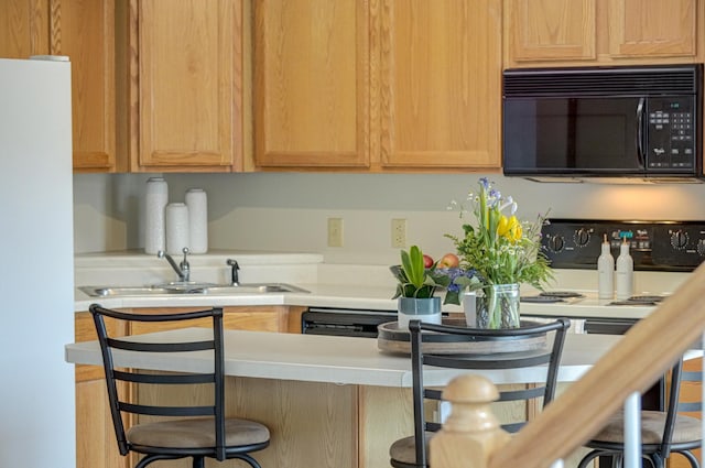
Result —
[[500, 1], [381, 4], [381, 165], [499, 167]]

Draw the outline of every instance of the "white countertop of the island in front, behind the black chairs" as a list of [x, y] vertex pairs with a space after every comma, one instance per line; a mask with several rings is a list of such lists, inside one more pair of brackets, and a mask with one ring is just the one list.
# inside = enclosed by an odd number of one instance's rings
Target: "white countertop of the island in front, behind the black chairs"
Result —
[[[186, 328], [150, 336], [169, 341], [197, 339], [209, 334], [209, 330], [203, 328]], [[614, 335], [568, 334], [558, 381], [571, 382], [579, 379], [621, 338]], [[226, 330], [225, 345], [227, 376], [395, 388], [412, 385], [411, 359], [408, 356], [380, 351], [376, 339]], [[70, 344], [66, 346], [65, 351], [68, 362], [102, 362], [97, 341]], [[213, 367], [212, 356], [207, 351], [188, 353], [188, 357], [180, 359], [161, 353], [135, 357], [129, 351], [113, 355], [118, 366], [164, 371], [207, 370]], [[432, 371], [426, 381], [430, 384], [442, 385], [462, 372], [464, 371]], [[541, 368], [471, 372], [481, 373], [497, 384], [535, 382], [545, 378], [545, 371]]]

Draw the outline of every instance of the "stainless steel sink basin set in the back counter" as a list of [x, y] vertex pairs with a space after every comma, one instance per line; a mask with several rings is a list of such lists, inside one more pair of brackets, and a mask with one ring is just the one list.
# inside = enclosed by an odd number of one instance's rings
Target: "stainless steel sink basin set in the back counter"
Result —
[[148, 286], [80, 286], [78, 290], [91, 297], [144, 296], [155, 294], [267, 294], [267, 293], [308, 293], [308, 291], [286, 283], [249, 283], [240, 285], [174, 282]]

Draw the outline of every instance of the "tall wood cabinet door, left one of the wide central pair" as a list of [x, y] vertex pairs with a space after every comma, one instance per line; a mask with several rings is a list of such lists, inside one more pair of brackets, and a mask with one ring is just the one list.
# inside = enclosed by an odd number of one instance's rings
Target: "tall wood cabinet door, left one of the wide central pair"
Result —
[[256, 164], [369, 165], [368, 2], [254, 3]]

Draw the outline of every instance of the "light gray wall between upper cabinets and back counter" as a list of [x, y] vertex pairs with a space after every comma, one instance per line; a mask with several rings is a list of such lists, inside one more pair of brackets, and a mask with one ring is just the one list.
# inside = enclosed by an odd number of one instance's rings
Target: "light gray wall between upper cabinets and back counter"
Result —
[[[209, 247], [308, 251], [332, 263], [390, 264], [391, 219], [408, 220], [408, 244], [434, 257], [459, 233], [452, 200], [464, 202], [480, 174], [166, 174], [170, 202], [189, 187], [208, 194]], [[141, 197], [149, 175], [74, 176], [76, 252], [143, 246]], [[705, 219], [705, 184], [539, 184], [488, 175], [519, 203], [519, 216], [596, 219]], [[344, 219], [344, 247], [328, 248], [327, 218]]]

